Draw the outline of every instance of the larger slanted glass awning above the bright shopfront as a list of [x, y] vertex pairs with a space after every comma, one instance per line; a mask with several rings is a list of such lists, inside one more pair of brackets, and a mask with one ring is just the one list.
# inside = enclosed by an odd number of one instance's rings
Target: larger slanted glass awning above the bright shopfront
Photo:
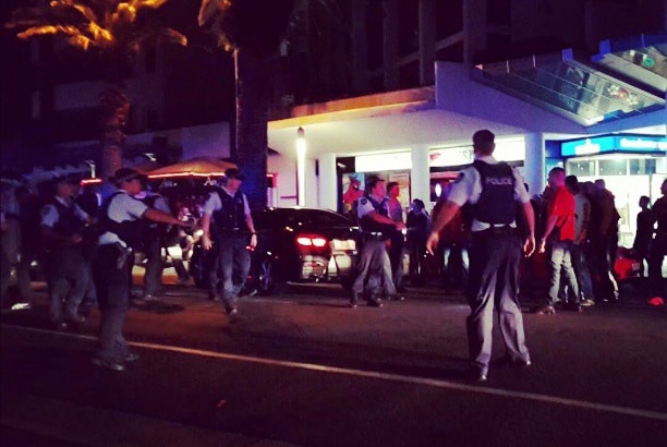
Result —
[[572, 50], [480, 64], [473, 76], [584, 126], [665, 108], [664, 95], [580, 62]]

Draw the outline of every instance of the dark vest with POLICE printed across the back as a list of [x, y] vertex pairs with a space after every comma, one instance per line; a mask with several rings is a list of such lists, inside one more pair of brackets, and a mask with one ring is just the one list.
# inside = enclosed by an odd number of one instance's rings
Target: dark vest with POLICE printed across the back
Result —
[[482, 194], [472, 207], [472, 217], [490, 225], [509, 225], [517, 216], [514, 205], [514, 174], [506, 162], [489, 165], [475, 160], [473, 167], [480, 172]]

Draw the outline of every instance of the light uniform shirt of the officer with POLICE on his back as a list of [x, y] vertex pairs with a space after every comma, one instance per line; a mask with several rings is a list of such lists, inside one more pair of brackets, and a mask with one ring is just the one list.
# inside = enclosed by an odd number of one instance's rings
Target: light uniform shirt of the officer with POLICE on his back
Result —
[[[496, 160], [490, 155], [475, 157], [480, 161], [484, 161], [488, 165], [497, 165], [498, 160]], [[514, 176], [514, 200], [521, 202], [522, 204], [526, 204], [531, 201], [531, 196], [527, 191], [525, 191], [525, 186], [523, 184], [523, 177], [512, 168], [512, 173]], [[449, 191], [449, 195], [447, 200], [453, 202], [459, 206], [463, 206], [466, 202], [471, 204], [477, 203], [480, 196], [482, 195], [482, 180], [480, 177], [480, 172], [474, 167], [468, 167], [461, 171], [459, 178], [451, 184], [451, 190]], [[511, 204], [508, 204], [510, 206]], [[517, 222], [512, 221], [510, 227], [517, 227]], [[490, 228], [490, 225], [487, 222], [481, 222], [477, 219], [473, 219], [472, 222], [472, 231], [482, 231]]]

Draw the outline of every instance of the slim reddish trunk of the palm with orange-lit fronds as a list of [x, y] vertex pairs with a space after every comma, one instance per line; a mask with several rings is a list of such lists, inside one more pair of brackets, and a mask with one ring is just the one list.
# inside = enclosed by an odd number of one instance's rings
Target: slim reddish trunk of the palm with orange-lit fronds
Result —
[[120, 84], [109, 84], [99, 95], [101, 135], [101, 177], [109, 180], [123, 166], [125, 126], [130, 117], [130, 101]]

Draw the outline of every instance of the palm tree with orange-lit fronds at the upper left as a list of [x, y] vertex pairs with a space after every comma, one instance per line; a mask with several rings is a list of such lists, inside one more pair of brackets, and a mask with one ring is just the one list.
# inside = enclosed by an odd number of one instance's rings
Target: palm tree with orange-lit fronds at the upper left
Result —
[[161, 41], [187, 45], [182, 34], [160, 26], [148, 10], [168, 0], [51, 0], [21, 8], [7, 24], [19, 38], [57, 36], [72, 47], [96, 50], [106, 63], [107, 88], [99, 96], [102, 125], [102, 179], [122, 167], [122, 148], [130, 102], [123, 88], [122, 67], [142, 49]]

